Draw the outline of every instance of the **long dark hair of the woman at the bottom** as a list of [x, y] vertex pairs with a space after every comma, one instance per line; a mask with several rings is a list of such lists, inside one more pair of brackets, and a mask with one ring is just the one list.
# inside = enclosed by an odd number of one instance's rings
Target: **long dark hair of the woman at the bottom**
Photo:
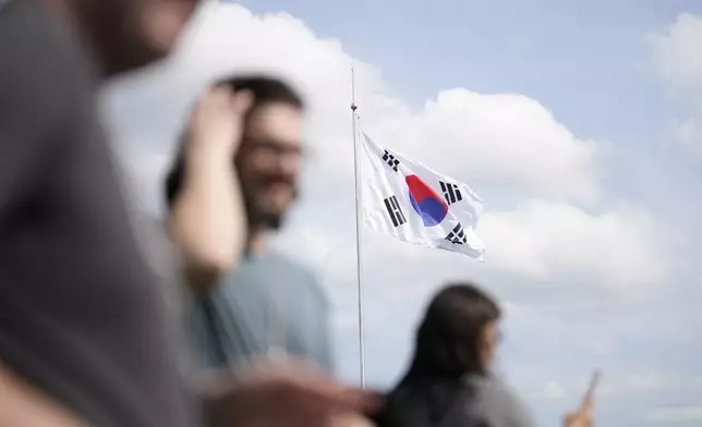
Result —
[[498, 320], [497, 304], [472, 284], [456, 283], [432, 300], [416, 332], [414, 357], [390, 392], [380, 427], [437, 426], [456, 399], [470, 390], [465, 375], [487, 375], [481, 361], [485, 327]]

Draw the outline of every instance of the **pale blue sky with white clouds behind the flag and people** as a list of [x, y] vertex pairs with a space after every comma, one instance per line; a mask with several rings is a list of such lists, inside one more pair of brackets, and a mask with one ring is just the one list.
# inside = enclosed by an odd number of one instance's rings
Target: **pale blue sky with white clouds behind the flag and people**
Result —
[[358, 382], [352, 65], [364, 131], [485, 202], [482, 264], [361, 231], [367, 382], [394, 385], [427, 298], [469, 280], [506, 312], [496, 371], [541, 426], [594, 368], [598, 425], [702, 425], [702, 3], [211, 1], [172, 59], [106, 87], [153, 216], [207, 82], [262, 71], [301, 90], [311, 155], [275, 244], [322, 278]]

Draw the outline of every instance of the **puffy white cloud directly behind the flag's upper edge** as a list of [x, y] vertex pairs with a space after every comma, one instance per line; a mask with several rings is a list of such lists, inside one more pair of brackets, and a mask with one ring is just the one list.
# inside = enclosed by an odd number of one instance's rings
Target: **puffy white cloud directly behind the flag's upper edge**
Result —
[[581, 203], [597, 198], [595, 144], [577, 138], [525, 96], [456, 88], [439, 93], [420, 112], [371, 122], [386, 144], [474, 185], [501, 184]]

